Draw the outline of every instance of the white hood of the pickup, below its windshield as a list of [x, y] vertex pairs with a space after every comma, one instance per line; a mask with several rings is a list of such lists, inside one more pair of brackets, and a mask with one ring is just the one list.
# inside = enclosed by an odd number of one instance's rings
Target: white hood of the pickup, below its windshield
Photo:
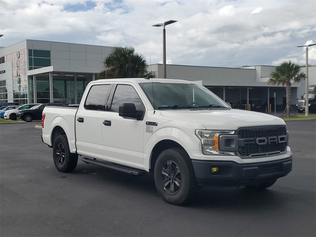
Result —
[[208, 130], [237, 130], [247, 126], [285, 125], [283, 119], [273, 115], [241, 109], [218, 110], [161, 110], [161, 115], [204, 125]]

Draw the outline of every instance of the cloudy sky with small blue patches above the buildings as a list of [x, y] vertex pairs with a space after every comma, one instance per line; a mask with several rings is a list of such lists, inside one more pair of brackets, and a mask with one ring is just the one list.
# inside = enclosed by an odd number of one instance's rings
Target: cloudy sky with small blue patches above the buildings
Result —
[[[0, 0], [0, 46], [25, 39], [133, 46], [148, 63], [236, 67], [305, 64], [316, 43], [315, 0]], [[316, 64], [316, 46], [309, 47]]]

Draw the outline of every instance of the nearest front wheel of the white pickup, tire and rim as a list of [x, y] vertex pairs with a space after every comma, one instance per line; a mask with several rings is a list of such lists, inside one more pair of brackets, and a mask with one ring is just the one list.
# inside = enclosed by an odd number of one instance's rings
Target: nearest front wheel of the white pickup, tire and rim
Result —
[[154, 178], [161, 198], [173, 205], [189, 202], [197, 192], [191, 160], [178, 148], [161, 152], [155, 163]]

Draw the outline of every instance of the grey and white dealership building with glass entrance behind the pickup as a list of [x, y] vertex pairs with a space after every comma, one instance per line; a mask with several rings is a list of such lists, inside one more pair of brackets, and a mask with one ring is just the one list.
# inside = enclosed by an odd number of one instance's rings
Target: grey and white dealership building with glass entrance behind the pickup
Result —
[[[78, 104], [87, 84], [103, 70], [102, 60], [110, 46], [24, 40], [0, 48], [0, 103], [64, 102]], [[316, 84], [315, 66], [309, 66], [309, 84]], [[167, 78], [202, 84], [223, 100], [258, 101], [274, 111], [286, 105], [282, 85], [268, 85], [275, 66], [236, 68], [167, 65]], [[155, 78], [163, 78], [163, 65], [149, 65]], [[305, 67], [302, 67], [305, 72]], [[313, 83], [315, 82], [315, 83]], [[291, 105], [305, 92], [305, 80], [292, 84]], [[274, 98], [274, 96], [276, 96]], [[246, 107], [246, 106], [245, 106]], [[267, 106], [269, 108], [269, 106]]]

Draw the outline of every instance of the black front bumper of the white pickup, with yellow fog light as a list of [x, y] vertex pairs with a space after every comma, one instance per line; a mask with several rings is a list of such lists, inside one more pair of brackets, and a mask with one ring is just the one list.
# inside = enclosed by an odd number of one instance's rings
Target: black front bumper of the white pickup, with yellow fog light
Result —
[[[238, 164], [234, 161], [192, 160], [195, 177], [200, 185], [242, 186], [275, 180], [292, 170], [292, 156], [282, 160]], [[218, 171], [212, 173], [212, 168]]]

